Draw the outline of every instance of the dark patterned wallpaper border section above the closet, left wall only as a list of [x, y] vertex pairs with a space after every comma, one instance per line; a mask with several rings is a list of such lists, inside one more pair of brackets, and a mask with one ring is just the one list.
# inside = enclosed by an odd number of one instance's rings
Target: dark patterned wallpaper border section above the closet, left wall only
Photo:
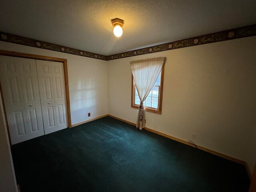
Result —
[[44, 41], [34, 40], [34, 39], [17, 36], [9, 33], [4, 33], [4, 32], [0, 32], [0, 34], [1, 34], [0, 40], [5, 42], [21, 44], [21, 45], [47, 49], [52, 51], [64, 52], [72, 55], [79, 55], [79, 56], [90, 57], [94, 59], [107, 60], [106, 56], [96, 54], [96, 53], [91, 53], [91, 52], [78, 50], [78, 49], [74, 49], [66, 46], [56, 45], [56, 44], [52, 44]]

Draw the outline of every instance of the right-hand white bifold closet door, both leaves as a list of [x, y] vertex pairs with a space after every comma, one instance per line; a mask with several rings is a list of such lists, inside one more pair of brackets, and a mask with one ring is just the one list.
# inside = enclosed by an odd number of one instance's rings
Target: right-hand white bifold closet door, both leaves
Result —
[[45, 134], [67, 128], [63, 63], [36, 60], [36, 67]]

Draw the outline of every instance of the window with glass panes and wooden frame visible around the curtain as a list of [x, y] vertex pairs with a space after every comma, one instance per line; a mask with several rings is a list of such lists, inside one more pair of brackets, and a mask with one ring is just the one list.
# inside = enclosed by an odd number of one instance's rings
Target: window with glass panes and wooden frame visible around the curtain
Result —
[[[163, 82], [164, 82], [164, 66], [154, 84], [154, 87], [148, 94], [146, 100], [143, 102], [144, 110], [157, 114], [162, 113], [162, 96], [163, 96]], [[140, 107], [140, 98], [136, 89], [136, 85], [132, 76], [132, 108]]]

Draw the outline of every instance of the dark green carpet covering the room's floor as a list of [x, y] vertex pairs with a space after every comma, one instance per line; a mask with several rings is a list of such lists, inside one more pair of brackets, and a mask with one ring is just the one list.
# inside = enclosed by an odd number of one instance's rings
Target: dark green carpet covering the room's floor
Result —
[[21, 192], [248, 192], [244, 166], [105, 117], [12, 147]]

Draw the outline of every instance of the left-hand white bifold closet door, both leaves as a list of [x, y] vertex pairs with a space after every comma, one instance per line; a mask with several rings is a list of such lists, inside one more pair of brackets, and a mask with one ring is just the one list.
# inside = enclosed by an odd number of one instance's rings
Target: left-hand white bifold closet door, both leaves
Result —
[[36, 61], [0, 56], [0, 82], [12, 144], [44, 135]]

